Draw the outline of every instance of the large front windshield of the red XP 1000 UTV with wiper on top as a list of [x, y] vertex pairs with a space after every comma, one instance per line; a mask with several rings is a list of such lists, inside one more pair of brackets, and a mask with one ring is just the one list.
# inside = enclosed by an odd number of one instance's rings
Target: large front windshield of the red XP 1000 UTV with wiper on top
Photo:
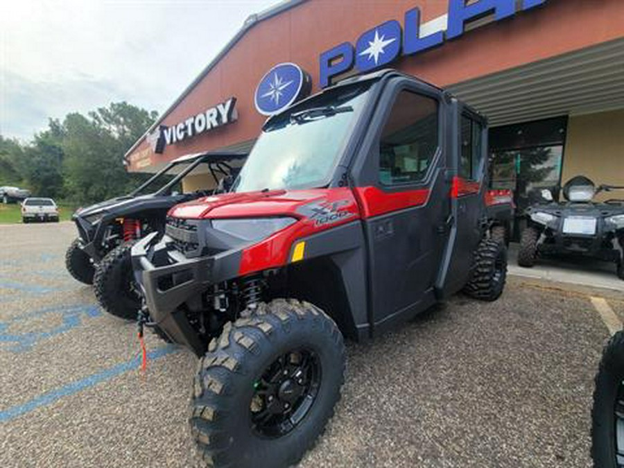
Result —
[[370, 83], [335, 89], [268, 121], [233, 191], [313, 189], [329, 183]]

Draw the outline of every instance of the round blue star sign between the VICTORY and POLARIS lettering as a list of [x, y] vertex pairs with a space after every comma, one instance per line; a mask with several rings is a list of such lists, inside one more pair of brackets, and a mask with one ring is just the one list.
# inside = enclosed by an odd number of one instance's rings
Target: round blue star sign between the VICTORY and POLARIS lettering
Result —
[[294, 63], [280, 63], [262, 77], [254, 101], [263, 115], [273, 115], [310, 94], [311, 78]]

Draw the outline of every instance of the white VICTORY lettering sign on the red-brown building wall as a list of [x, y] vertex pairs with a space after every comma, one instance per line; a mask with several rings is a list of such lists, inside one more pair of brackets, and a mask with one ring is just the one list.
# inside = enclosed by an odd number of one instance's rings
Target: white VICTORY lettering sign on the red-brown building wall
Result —
[[237, 118], [236, 98], [232, 97], [176, 125], [171, 125], [171, 127], [160, 125], [148, 135], [147, 141], [152, 146], [154, 153], [162, 153], [166, 145], [209, 132], [227, 125], [227, 123], [232, 123]]

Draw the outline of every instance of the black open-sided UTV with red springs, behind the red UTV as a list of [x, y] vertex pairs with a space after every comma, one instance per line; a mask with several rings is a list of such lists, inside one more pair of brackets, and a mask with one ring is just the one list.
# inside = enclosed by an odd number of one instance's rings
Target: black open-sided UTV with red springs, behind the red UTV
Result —
[[[94, 284], [103, 309], [136, 320], [141, 297], [132, 281], [132, 243], [150, 232], [162, 234], [166, 212], [173, 205], [229, 189], [239, 171], [232, 165], [240, 166], [246, 156], [241, 153], [182, 156], [132, 193], [79, 209], [72, 219], [80, 236], [67, 250], [67, 270], [78, 281]], [[199, 171], [212, 175], [212, 187], [182, 193], [182, 178]]]

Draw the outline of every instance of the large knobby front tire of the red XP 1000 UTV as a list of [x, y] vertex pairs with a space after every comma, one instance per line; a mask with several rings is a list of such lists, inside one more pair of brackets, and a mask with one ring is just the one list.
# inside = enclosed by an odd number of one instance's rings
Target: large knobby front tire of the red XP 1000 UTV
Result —
[[[300, 400], [293, 401], [289, 410], [279, 414], [290, 414], [297, 422], [288, 433], [267, 435], [270, 425], [261, 419], [263, 414], [269, 414], [268, 408], [273, 408], [268, 401], [284, 405], [282, 390], [290, 389], [292, 397], [295, 388], [288, 386], [297, 379], [296, 367], [288, 367], [297, 365], [296, 359], [293, 364], [293, 356], [300, 356], [300, 363], [313, 363], [306, 367], [308, 371], [318, 370], [303, 372], [308, 377], [304, 385], [315, 381], [310, 377], [318, 377], [316, 392], [313, 397], [307, 392], [299, 394]], [[271, 394], [265, 383], [280, 382], [282, 362], [291, 369], [284, 372], [294, 372], [295, 377], [292, 382], [290, 376], [281, 377], [288, 382], [280, 384], [279, 397], [268, 397]], [[312, 304], [277, 299], [259, 304], [248, 318], [228, 322], [200, 359], [193, 385], [189, 422], [202, 460], [210, 467], [295, 465], [333, 415], [344, 372], [343, 337], [336, 323]], [[301, 395], [308, 396], [301, 399]], [[309, 401], [311, 405], [307, 406]], [[298, 413], [302, 408], [303, 413]], [[274, 416], [270, 416], [269, 422], [274, 420], [271, 418]]]

